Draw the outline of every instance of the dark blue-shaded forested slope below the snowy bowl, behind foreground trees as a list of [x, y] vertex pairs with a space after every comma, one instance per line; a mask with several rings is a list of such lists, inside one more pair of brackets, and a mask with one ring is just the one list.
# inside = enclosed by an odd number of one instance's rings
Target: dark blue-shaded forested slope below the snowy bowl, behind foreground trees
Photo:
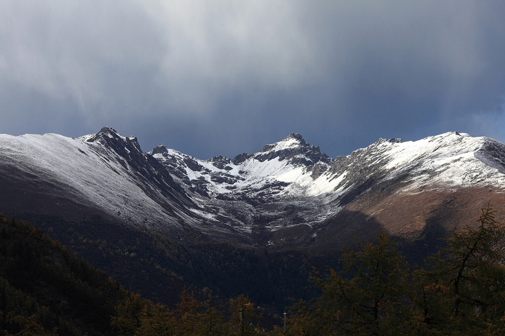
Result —
[[168, 305], [175, 304], [184, 289], [198, 296], [199, 289], [208, 287], [221, 297], [248, 295], [278, 312], [290, 304], [288, 297], [314, 295], [314, 289], [308, 288], [312, 266], [338, 266], [333, 253], [337, 247], [320, 255], [296, 247], [269, 251], [213, 241], [189, 230], [184, 235], [152, 233], [144, 226], [132, 229], [98, 217], [81, 223], [48, 216], [30, 221], [41, 223], [53, 239], [129, 291]]

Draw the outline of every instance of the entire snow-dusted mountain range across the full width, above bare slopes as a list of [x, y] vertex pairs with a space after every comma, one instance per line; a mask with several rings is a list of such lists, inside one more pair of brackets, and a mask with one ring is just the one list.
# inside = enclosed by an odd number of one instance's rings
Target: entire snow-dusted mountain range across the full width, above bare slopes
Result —
[[103, 128], [77, 139], [0, 135], [0, 157], [6, 171], [65, 186], [48, 193], [155, 228], [275, 231], [314, 226], [383, 190], [505, 190], [505, 145], [456, 132], [379, 139], [335, 159], [293, 133], [257, 153], [200, 160], [165, 145], [144, 153], [135, 137]]

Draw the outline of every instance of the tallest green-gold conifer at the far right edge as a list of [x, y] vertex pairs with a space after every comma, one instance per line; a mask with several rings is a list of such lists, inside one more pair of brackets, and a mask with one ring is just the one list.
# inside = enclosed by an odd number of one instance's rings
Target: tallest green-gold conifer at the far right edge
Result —
[[478, 227], [465, 227], [416, 271], [419, 334], [505, 332], [505, 226], [488, 203]]

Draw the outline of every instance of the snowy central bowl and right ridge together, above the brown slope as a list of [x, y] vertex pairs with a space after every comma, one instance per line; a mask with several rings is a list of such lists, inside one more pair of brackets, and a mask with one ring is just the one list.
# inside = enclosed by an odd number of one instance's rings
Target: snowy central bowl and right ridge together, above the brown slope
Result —
[[414, 142], [379, 139], [332, 160], [291, 134], [233, 159], [198, 160], [163, 145], [151, 154], [213, 214], [210, 220], [251, 232], [317, 225], [370, 195], [488, 185], [501, 192], [504, 147], [489, 138], [452, 132]]

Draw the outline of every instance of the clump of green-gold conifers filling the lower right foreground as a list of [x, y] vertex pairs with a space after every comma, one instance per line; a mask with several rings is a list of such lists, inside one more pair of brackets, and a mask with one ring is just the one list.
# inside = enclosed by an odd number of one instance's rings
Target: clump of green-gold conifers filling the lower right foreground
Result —
[[505, 226], [489, 204], [478, 223], [452, 232], [421, 266], [409, 265], [384, 231], [345, 247], [343, 270], [312, 277], [322, 294], [292, 307], [285, 334], [503, 334]]

